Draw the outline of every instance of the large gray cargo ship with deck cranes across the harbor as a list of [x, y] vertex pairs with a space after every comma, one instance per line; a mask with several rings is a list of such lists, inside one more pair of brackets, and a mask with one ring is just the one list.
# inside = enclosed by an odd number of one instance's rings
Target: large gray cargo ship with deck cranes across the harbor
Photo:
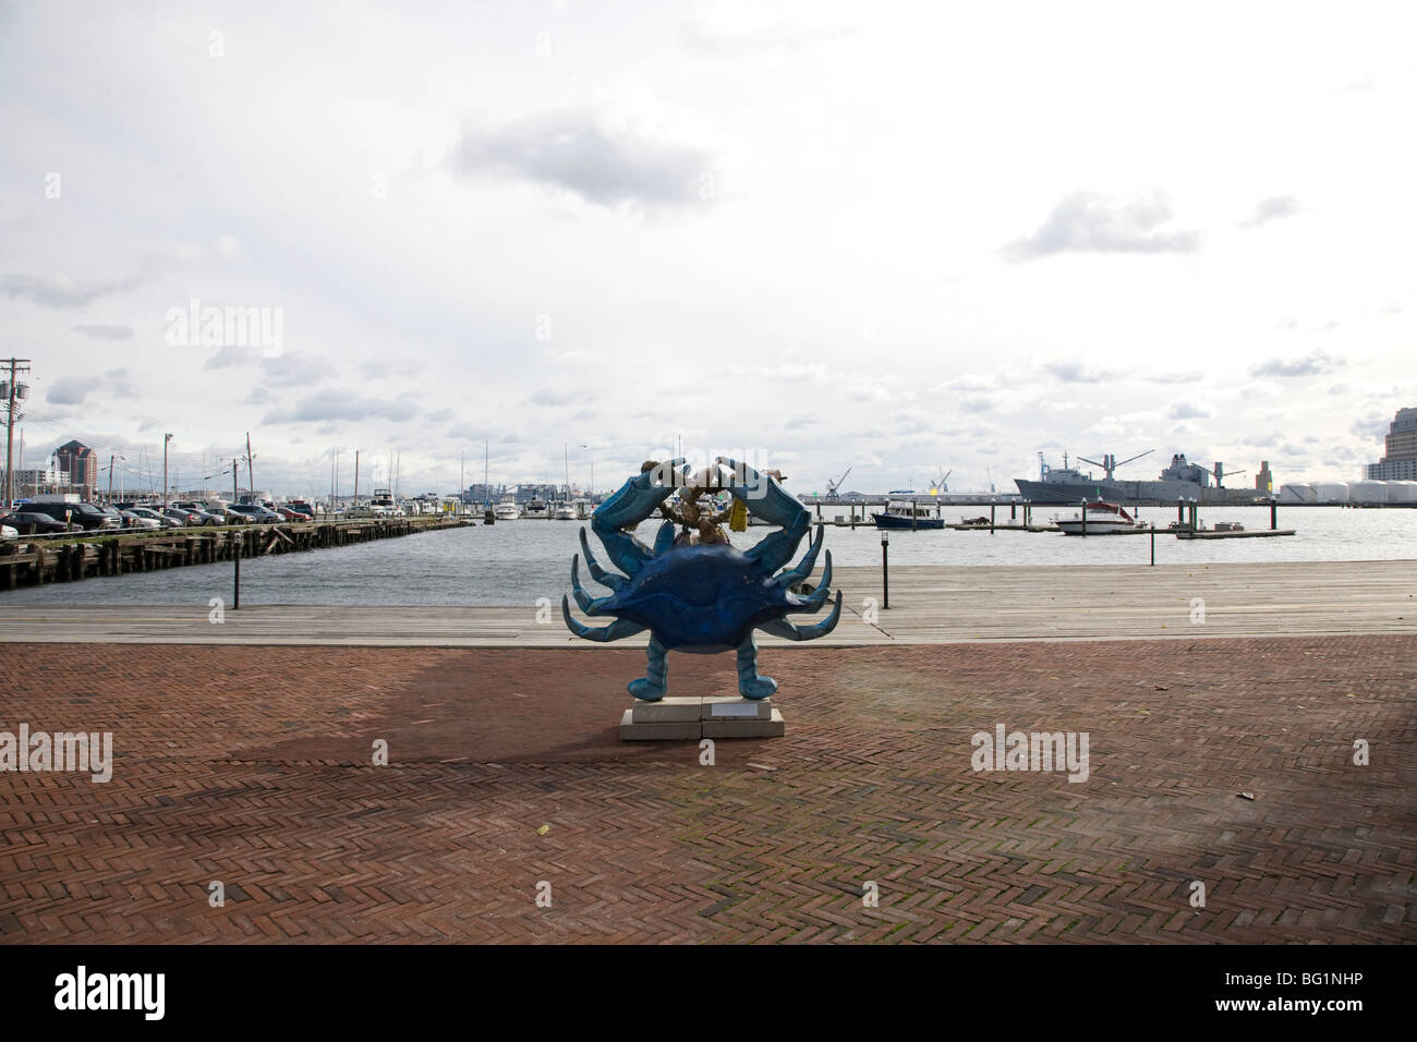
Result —
[[[1115, 455], [1104, 455], [1101, 461], [1078, 456], [1084, 464], [1102, 468], [1102, 476], [1093, 472], [1083, 474], [1067, 464], [1067, 454], [1063, 454], [1063, 466], [1049, 466], [1039, 452], [1039, 479], [1026, 481], [1015, 478], [1019, 495], [1033, 503], [1077, 503], [1083, 499], [1105, 499], [1114, 503], [1136, 503], [1142, 506], [1175, 505], [1178, 499], [1195, 499], [1200, 503], [1251, 503], [1260, 498], [1254, 489], [1227, 489], [1224, 482], [1224, 464], [1216, 464], [1207, 469], [1200, 464], [1186, 461], [1185, 454], [1170, 458], [1170, 466], [1161, 472], [1156, 481], [1124, 481], [1114, 478], [1118, 466], [1141, 459], [1141, 455], [1117, 462]], [[1231, 474], [1244, 474], [1231, 471]], [[1210, 479], [1216, 483], [1212, 485]]]

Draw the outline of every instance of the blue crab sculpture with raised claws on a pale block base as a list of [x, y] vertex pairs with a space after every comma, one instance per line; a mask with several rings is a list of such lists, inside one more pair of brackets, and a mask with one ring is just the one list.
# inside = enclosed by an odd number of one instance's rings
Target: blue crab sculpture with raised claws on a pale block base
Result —
[[[659, 526], [653, 547], [625, 532], [655, 513], [674, 488], [690, 483], [690, 468], [683, 459], [631, 478], [591, 515], [591, 527], [623, 576], [597, 563], [585, 529], [581, 529], [581, 549], [591, 577], [612, 593], [608, 597], [585, 593], [580, 576], [581, 556], [577, 554], [571, 561], [575, 603], [587, 615], [614, 615], [615, 621], [598, 628], [578, 622], [571, 617], [567, 597], [561, 598], [561, 614], [570, 631], [587, 641], [618, 641], [649, 629], [649, 666], [645, 676], [629, 683], [629, 693], [642, 702], [657, 702], [669, 689], [666, 656], [670, 651], [696, 655], [737, 651], [738, 692], [747, 699], [765, 699], [778, 685], [771, 676], [758, 675], [754, 629], [789, 641], [812, 641], [832, 632], [842, 617], [842, 594], [837, 593], [832, 612], [820, 622], [795, 625], [786, 620], [789, 612], [815, 612], [826, 603], [832, 551], [826, 551], [820, 586], [809, 594], [794, 593], [816, 564], [822, 549], [820, 529], [801, 563], [786, 568], [811, 527], [806, 508], [772, 478], [745, 464], [720, 456], [717, 466], [733, 471], [724, 485], [728, 493], [750, 513], [769, 525], [779, 525], [779, 532], [745, 551], [727, 543], [676, 546], [674, 523], [669, 520]], [[723, 481], [721, 474], [718, 481]]]

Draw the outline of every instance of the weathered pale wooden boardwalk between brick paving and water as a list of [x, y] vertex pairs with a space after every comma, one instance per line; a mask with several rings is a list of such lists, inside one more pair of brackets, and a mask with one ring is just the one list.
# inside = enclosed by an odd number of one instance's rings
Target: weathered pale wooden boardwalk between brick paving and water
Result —
[[[1417, 634], [1417, 561], [894, 567], [890, 610], [879, 604], [879, 568], [837, 568], [835, 586], [845, 594], [842, 622], [813, 646]], [[567, 632], [558, 603], [540, 611], [248, 603], [214, 624], [205, 601], [194, 601], [50, 607], [0, 598], [0, 642], [599, 646]]]

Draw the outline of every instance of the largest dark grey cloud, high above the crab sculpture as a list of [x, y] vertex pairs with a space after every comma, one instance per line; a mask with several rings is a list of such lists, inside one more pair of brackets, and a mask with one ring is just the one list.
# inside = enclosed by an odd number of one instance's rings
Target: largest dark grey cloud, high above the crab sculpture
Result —
[[700, 206], [716, 152], [672, 129], [676, 122], [657, 106], [638, 113], [578, 106], [500, 126], [469, 123], [449, 163], [462, 176], [533, 181], [605, 207]]

